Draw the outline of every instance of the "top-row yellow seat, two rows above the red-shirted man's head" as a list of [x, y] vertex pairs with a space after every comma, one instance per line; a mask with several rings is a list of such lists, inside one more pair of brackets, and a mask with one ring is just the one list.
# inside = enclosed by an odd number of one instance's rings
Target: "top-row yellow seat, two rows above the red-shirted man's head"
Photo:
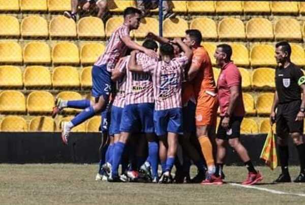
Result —
[[242, 13], [242, 2], [216, 1], [216, 13]]

